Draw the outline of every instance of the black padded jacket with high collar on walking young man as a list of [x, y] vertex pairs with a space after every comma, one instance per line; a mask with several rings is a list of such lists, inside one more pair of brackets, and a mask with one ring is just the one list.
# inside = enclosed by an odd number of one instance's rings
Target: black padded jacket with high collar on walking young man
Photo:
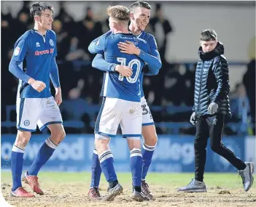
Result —
[[193, 111], [198, 116], [209, 115], [209, 104], [216, 102], [219, 105], [217, 113], [231, 115], [228, 99], [228, 62], [223, 55], [223, 44], [218, 42], [212, 52], [203, 52], [199, 47], [198, 54], [201, 60], [195, 70]]

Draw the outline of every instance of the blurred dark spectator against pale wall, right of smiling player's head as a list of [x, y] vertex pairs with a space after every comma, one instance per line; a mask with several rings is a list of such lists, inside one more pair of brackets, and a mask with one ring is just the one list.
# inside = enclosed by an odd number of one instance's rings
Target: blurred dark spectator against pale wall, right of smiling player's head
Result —
[[158, 43], [158, 50], [163, 61], [166, 59], [167, 35], [173, 31], [173, 28], [169, 21], [163, 17], [161, 4], [156, 4], [155, 17], [150, 20], [150, 26]]

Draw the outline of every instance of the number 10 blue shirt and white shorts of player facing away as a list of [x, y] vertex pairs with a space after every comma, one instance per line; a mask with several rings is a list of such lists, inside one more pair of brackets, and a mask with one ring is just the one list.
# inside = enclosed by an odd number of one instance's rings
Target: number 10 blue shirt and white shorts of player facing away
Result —
[[126, 65], [133, 69], [133, 75], [129, 78], [116, 72], [106, 72], [104, 86], [101, 90], [101, 96], [106, 98], [98, 114], [95, 133], [115, 137], [120, 123], [123, 137], [141, 137], [142, 111], [139, 77], [144, 62], [135, 54], [120, 52], [117, 46], [120, 41], [131, 41], [141, 50], [145, 52], [149, 50], [147, 41], [132, 33], [111, 33], [109, 36], [101, 36], [94, 44], [94, 52], [104, 52], [106, 62]]

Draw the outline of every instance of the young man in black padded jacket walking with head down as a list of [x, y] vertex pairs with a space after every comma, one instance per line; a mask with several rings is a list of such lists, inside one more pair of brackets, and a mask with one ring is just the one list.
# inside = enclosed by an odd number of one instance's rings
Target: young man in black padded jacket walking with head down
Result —
[[190, 117], [190, 122], [196, 126], [195, 178], [178, 191], [206, 192], [203, 173], [209, 137], [214, 153], [221, 155], [238, 169], [244, 191], [248, 191], [253, 183], [253, 163], [244, 163], [222, 144], [224, 119], [225, 116], [231, 115], [228, 99], [228, 62], [223, 55], [224, 46], [217, 41], [217, 33], [213, 30], [202, 31], [200, 44], [198, 53], [201, 60], [195, 69], [194, 106]]

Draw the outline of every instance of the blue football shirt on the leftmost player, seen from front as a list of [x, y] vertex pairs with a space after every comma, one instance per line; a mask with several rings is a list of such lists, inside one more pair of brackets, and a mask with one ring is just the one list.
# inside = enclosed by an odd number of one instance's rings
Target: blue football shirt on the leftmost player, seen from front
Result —
[[26, 71], [28, 76], [36, 81], [43, 81], [46, 88], [37, 92], [33, 87], [20, 80], [18, 93], [20, 98], [50, 97], [50, 65], [57, 55], [56, 35], [54, 31], [47, 31], [42, 36], [36, 30], [29, 30], [18, 38], [12, 54], [12, 60], [23, 62], [26, 58]]

